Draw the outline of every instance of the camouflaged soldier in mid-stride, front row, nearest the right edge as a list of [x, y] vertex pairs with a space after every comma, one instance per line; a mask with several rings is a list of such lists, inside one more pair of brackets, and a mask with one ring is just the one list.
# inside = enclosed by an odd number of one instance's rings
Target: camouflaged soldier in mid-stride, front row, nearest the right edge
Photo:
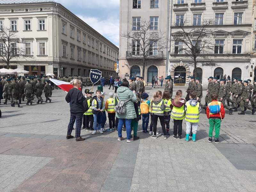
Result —
[[252, 115], [255, 113], [255, 108], [248, 106], [249, 99], [251, 95], [251, 88], [248, 86], [248, 81], [244, 81], [244, 88], [243, 93], [241, 97], [241, 113], [238, 113], [238, 115], [244, 115], [244, 107], [248, 108], [249, 110], [252, 110]]

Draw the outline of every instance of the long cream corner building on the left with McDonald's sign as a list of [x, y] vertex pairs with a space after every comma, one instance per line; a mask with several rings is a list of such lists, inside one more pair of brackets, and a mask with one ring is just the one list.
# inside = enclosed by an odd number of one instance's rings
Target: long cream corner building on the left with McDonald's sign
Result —
[[25, 69], [30, 75], [88, 76], [94, 68], [105, 77], [116, 74], [118, 47], [61, 4], [34, 2], [0, 4], [0, 28], [17, 31], [24, 44], [16, 46], [22, 46], [28, 56], [11, 68]]

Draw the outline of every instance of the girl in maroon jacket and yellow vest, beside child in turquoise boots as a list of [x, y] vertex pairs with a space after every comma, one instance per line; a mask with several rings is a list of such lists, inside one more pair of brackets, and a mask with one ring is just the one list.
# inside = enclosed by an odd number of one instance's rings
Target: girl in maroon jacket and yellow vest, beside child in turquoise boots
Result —
[[181, 139], [182, 120], [185, 118], [184, 105], [186, 101], [181, 97], [182, 97], [182, 91], [178, 90], [170, 106], [172, 109], [171, 118], [173, 118], [173, 138], [174, 139], [177, 139], [177, 130], [178, 130], [178, 139]]

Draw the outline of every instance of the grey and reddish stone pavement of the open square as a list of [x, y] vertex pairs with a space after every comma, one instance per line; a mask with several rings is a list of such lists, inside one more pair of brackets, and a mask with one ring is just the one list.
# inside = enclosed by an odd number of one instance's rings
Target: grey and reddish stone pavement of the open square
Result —
[[[114, 91], [107, 88], [105, 100]], [[174, 92], [181, 89], [185, 96], [184, 88], [175, 86]], [[151, 97], [157, 90], [164, 88], [146, 92]], [[86, 141], [75, 142], [65, 139], [70, 115], [65, 96], [54, 90], [51, 103], [0, 105], [0, 191], [256, 191], [251, 111], [239, 116], [226, 110], [219, 144], [207, 141], [204, 110], [196, 142], [184, 141], [185, 121], [181, 140], [172, 138], [172, 122], [171, 137], [164, 140], [142, 133], [140, 121], [140, 140], [132, 143], [117, 142], [116, 131], [92, 136], [85, 130]]]

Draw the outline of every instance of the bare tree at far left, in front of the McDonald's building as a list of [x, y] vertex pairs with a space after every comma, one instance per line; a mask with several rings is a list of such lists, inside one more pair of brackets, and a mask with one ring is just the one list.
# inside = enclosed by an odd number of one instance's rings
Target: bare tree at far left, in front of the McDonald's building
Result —
[[10, 64], [20, 64], [22, 59], [28, 57], [22, 44], [24, 42], [20, 41], [17, 31], [7, 27], [0, 29], [0, 63], [7, 65], [7, 69]]

